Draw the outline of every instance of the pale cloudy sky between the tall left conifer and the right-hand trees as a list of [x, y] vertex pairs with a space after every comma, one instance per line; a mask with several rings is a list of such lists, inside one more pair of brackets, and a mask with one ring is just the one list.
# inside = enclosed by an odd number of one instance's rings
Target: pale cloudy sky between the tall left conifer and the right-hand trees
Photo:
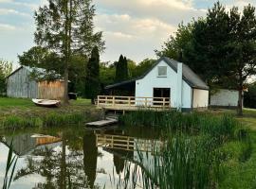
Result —
[[155, 58], [155, 49], [174, 34], [177, 25], [203, 16], [192, 0], [95, 0], [95, 26], [106, 41], [104, 60], [125, 54], [133, 60]]

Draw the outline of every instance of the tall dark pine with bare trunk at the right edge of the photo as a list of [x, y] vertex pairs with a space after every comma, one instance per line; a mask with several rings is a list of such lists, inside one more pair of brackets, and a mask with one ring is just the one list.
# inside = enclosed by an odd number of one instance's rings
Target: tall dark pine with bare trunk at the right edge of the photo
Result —
[[255, 8], [248, 5], [243, 14], [230, 10], [230, 43], [232, 48], [229, 78], [239, 90], [238, 114], [243, 114], [243, 90], [248, 77], [256, 74], [256, 17]]

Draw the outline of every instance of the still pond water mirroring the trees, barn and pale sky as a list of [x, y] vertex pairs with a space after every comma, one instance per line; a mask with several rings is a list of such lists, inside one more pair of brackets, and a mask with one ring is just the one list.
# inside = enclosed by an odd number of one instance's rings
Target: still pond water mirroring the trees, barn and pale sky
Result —
[[[150, 154], [160, 133], [149, 128], [25, 129], [0, 134], [0, 186], [9, 145], [18, 162], [11, 188], [116, 188], [124, 169], [137, 163], [137, 149]], [[150, 166], [150, 163], [145, 163]]]

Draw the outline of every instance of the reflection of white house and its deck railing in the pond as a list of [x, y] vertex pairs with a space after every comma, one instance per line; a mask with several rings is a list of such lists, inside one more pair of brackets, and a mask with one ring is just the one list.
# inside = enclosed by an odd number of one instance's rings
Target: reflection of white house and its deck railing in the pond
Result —
[[[140, 163], [143, 159], [143, 166], [148, 170], [155, 170], [155, 152], [165, 144], [164, 141], [137, 138], [121, 134], [96, 133], [97, 146], [113, 154], [113, 161], [117, 174], [123, 171], [125, 160]], [[140, 157], [140, 158], [139, 158]]]

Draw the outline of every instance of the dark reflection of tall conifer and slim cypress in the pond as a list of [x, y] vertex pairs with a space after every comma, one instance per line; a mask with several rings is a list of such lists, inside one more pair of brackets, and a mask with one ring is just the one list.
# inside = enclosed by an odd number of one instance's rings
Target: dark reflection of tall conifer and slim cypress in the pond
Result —
[[[79, 137], [82, 145], [79, 146], [79, 138], [76, 138], [78, 146], [72, 147], [68, 146], [68, 135], [63, 133], [61, 147], [33, 151], [32, 156], [26, 158], [26, 166], [18, 170], [14, 180], [39, 174], [46, 178], [46, 182], [37, 183], [34, 188], [98, 188], [94, 185], [98, 158], [95, 137], [92, 133], [84, 134]], [[71, 143], [74, 145], [74, 141]]]

